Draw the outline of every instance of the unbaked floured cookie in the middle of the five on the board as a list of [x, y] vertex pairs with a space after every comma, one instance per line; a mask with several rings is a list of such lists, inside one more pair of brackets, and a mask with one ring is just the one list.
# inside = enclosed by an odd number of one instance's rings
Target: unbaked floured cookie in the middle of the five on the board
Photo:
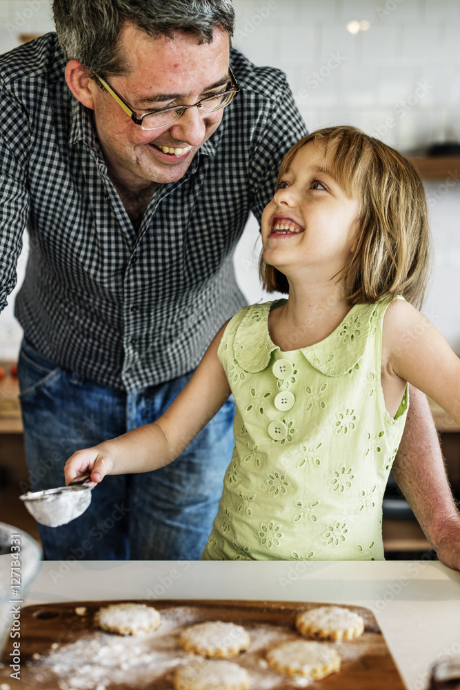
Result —
[[248, 649], [250, 637], [241, 625], [208, 620], [182, 631], [179, 644], [196, 654], [226, 658]]

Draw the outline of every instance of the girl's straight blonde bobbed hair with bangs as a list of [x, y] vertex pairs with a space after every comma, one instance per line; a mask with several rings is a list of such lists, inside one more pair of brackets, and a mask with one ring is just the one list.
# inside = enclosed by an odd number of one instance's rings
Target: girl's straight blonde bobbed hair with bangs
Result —
[[[303, 137], [286, 154], [278, 182], [308, 141], [324, 144], [323, 167], [360, 200], [357, 246], [341, 271], [350, 304], [403, 295], [417, 306], [430, 274], [430, 231], [419, 173], [401, 153], [350, 126]], [[288, 279], [261, 254], [259, 273], [268, 292], [289, 292]]]

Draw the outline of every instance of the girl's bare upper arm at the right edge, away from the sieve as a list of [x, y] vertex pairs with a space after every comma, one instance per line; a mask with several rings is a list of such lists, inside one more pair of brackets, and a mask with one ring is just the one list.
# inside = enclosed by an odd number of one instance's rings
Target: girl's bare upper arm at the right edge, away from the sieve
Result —
[[437, 328], [402, 299], [385, 315], [382, 366], [387, 377], [419, 388], [460, 424], [460, 359]]

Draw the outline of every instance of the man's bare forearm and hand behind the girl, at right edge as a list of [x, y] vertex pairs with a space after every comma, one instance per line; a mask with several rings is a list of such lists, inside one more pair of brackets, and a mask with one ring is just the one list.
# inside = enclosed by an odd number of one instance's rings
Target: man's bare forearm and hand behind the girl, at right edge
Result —
[[460, 570], [460, 515], [425, 395], [410, 386], [410, 407], [392, 473], [439, 560]]

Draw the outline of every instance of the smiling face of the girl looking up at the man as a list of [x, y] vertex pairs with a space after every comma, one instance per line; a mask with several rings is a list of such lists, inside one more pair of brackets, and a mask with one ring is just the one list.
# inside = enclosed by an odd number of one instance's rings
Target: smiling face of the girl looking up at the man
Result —
[[357, 240], [359, 200], [321, 168], [323, 144], [308, 141], [294, 156], [262, 214], [263, 258], [290, 277], [315, 268], [330, 279]]

